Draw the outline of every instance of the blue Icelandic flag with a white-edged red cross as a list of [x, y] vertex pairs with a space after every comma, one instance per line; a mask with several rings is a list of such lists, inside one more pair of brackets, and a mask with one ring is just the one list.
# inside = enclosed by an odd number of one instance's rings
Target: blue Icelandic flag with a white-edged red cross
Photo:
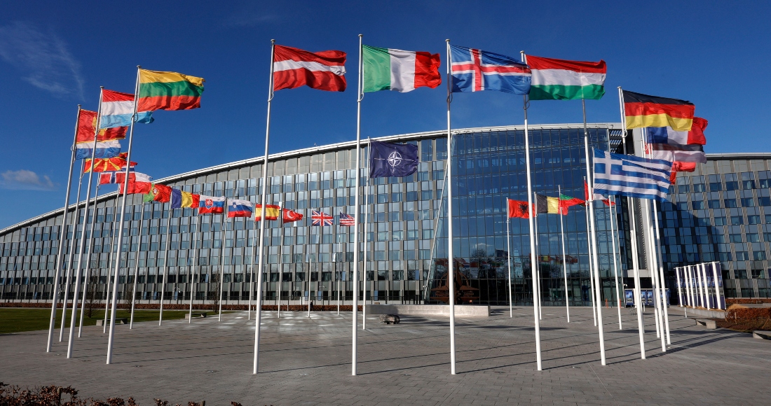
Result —
[[456, 45], [449, 46], [449, 54], [453, 92], [530, 92], [530, 68], [517, 59]]

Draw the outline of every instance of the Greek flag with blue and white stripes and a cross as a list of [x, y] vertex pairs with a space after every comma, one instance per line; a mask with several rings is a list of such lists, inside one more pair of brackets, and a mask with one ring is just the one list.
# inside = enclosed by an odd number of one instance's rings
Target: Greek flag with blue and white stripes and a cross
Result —
[[672, 163], [594, 148], [594, 192], [665, 200]]

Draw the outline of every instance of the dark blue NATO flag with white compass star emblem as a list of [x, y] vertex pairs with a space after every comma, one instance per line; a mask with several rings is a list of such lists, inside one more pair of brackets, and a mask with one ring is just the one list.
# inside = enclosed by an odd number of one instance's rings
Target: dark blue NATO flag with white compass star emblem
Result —
[[370, 141], [369, 177], [409, 176], [418, 170], [418, 146]]

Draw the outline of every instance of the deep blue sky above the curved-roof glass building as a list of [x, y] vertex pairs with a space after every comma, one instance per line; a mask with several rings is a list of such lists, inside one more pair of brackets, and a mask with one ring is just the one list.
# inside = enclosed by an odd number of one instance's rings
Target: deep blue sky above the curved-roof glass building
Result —
[[[112, 3], [112, 4], [111, 4]], [[454, 4], [453, 4], [454, 3]], [[99, 86], [132, 92], [136, 65], [206, 79], [201, 109], [157, 112], [135, 131], [156, 179], [261, 156], [270, 40], [348, 52], [347, 92], [276, 93], [271, 153], [355, 139], [358, 37], [442, 54], [453, 44], [608, 62], [590, 122], [618, 121], [617, 86], [688, 99], [708, 153], [771, 152], [764, 2], [11, 2], [0, 15], [0, 227], [62, 206], [76, 106]], [[445, 126], [445, 88], [368, 93], [362, 136]], [[580, 102], [533, 102], [530, 122], [580, 122]], [[453, 127], [522, 123], [519, 96], [456, 95]], [[124, 142], [124, 148], [127, 143]], [[74, 193], [74, 192], [73, 192]]]

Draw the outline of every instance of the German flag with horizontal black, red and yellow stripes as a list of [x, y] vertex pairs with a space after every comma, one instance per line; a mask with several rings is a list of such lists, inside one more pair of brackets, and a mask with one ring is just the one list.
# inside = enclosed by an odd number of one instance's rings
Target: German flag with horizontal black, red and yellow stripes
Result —
[[627, 129], [672, 127], [675, 131], [691, 130], [695, 110], [692, 102], [626, 90], [623, 93]]

